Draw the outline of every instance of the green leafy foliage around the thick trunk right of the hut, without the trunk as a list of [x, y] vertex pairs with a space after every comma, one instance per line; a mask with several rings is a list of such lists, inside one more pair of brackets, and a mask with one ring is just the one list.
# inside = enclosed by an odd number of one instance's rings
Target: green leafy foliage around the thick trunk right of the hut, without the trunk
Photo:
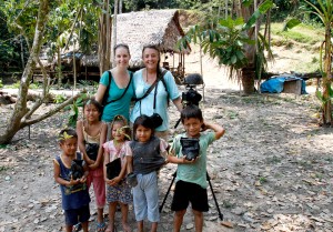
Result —
[[[249, 1], [249, 6], [251, 1]], [[263, 1], [253, 14], [244, 21], [243, 17], [233, 19], [231, 17], [226, 19], [220, 19], [216, 23], [208, 22], [206, 24], [196, 24], [192, 27], [188, 33], [179, 40], [178, 49], [182, 50], [186, 48], [186, 44], [193, 42], [199, 43], [203, 48], [203, 52], [208, 53], [211, 58], [218, 58], [219, 63], [229, 67], [230, 78], [238, 77], [238, 71], [252, 65], [248, 58], [248, 48], [254, 47], [255, 42], [260, 44], [256, 52], [258, 63], [254, 65], [260, 67], [260, 70], [266, 64], [264, 59], [264, 50], [271, 50], [269, 43], [265, 42], [263, 36], [258, 38], [251, 38], [249, 30], [251, 30], [258, 20], [265, 14], [274, 6], [272, 0]], [[252, 62], [252, 61], [251, 61]], [[242, 79], [242, 77], [241, 77]]]

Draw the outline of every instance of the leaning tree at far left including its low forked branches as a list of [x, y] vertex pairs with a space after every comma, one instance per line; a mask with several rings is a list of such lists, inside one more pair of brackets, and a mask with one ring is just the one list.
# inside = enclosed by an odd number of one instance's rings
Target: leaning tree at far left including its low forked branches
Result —
[[[6, 129], [0, 132], [0, 144], [9, 143], [20, 129], [37, 123], [39, 121], [42, 121], [56, 114], [65, 105], [72, 103], [75, 99], [78, 99], [81, 95], [81, 93], [73, 95], [72, 98], [68, 99], [61, 104], [58, 104], [57, 107], [49, 110], [48, 112], [44, 112], [42, 115], [33, 114], [37, 111], [37, 109], [39, 109], [39, 107], [41, 107], [46, 101], [48, 101], [48, 97], [49, 97], [50, 82], [48, 81], [48, 74], [46, 70], [43, 69], [43, 65], [39, 60], [39, 54], [40, 54], [41, 46], [44, 42], [43, 38], [46, 36], [46, 28], [47, 28], [48, 17], [50, 12], [50, 6], [52, 4], [49, 0], [40, 0], [38, 8], [36, 8], [37, 10], [30, 11], [30, 12], [34, 12], [34, 14], [30, 17], [36, 19], [34, 34], [31, 38], [32, 46], [29, 47], [30, 56], [21, 77], [20, 89], [19, 89], [17, 102], [14, 104], [14, 109], [8, 120]], [[27, 8], [23, 8], [22, 11], [24, 11], [26, 9], [29, 9], [28, 6]], [[13, 20], [13, 22], [20, 21], [20, 17], [22, 17], [26, 13], [22, 11], [16, 12], [17, 14], [13, 18], [17, 18], [17, 20]], [[24, 27], [21, 28], [18, 27], [18, 30], [19, 31], [22, 30], [20, 33], [24, 34], [24, 38], [27, 38], [27, 43], [30, 44], [29, 34], [31, 33], [32, 29], [30, 27], [28, 29], [26, 29]], [[29, 32], [29, 34], [27, 33], [27, 31]], [[31, 108], [28, 108], [27, 107], [28, 90], [32, 79], [33, 69], [37, 63], [40, 64], [43, 72], [42, 94], [36, 99], [34, 104]]]

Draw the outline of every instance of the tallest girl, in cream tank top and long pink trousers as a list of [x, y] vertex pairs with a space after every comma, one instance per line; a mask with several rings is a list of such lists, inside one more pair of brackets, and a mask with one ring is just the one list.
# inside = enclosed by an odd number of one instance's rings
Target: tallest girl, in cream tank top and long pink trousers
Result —
[[93, 183], [98, 210], [98, 231], [105, 230], [103, 208], [105, 204], [105, 182], [103, 176], [103, 148], [108, 127], [100, 121], [102, 105], [94, 99], [89, 99], [83, 104], [83, 120], [77, 122], [79, 149], [89, 167], [87, 178], [88, 189]]

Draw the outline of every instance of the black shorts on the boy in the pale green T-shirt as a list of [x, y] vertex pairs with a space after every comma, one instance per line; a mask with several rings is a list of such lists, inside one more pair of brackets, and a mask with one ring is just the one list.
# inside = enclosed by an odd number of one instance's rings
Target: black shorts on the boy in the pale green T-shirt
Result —
[[199, 212], [208, 212], [209, 204], [206, 189], [203, 189], [196, 183], [178, 181], [175, 183], [171, 210], [186, 210], [190, 202], [193, 210], [196, 210]]

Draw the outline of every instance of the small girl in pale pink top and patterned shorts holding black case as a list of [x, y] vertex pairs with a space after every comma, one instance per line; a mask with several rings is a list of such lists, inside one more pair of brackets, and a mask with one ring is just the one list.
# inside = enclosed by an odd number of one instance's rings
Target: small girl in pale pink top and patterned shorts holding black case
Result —
[[[130, 231], [128, 223], [129, 203], [132, 202], [131, 189], [124, 176], [127, 174], [127, 149], [131, 130], [122, 115], [115, 115], [111, 123], [111, 141], [103, 144], [104, 148], [104, 180], [107, 183], [107, 201], [109, 203], [109, 225], [107, 231], [114, 231], [114, 214], [117, 204], [120, 204], [121, 221], [124, 232]], [[115, 159], [121, 159], [121, 171], [118, 176], [108, 179], [107, 164]]]

